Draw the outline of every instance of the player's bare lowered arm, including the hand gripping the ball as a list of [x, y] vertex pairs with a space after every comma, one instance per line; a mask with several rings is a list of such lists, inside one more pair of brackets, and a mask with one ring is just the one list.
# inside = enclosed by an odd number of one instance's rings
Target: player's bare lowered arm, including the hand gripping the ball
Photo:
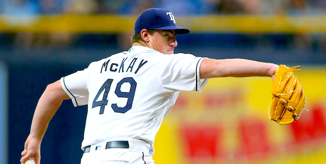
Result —
[[40, 163], [40, 148], [44, 133], [49, 121], [65, 99], [70, 99], [70, 97], [62, 89], [60, 80], [46, 87], [35, 108], [30, 135], [26, 139], [24, 150], [21, 152], [21, 163], [24, 163], [30, 157], [37, 164]]

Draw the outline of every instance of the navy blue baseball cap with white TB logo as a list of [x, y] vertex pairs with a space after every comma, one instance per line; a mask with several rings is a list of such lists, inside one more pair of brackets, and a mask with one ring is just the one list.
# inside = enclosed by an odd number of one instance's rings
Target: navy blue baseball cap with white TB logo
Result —
[[150, 8], [143, 11], [134, 23], [134, 34], [146, 30], [175, 30], [176, 34], [186, 34], [190, 30], [175, 25], [172, 12], [165, 9]]

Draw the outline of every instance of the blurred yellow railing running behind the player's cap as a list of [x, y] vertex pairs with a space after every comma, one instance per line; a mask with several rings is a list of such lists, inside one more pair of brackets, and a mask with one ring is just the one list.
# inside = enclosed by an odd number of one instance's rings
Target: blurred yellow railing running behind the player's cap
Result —
[[[110, 33], [133, 32], [133, 15], [41, 15], [0, 16], [0, 33]], [[326, 15], [254, 16], [205, 15], [180, 16], [177, 25], [193, 33], [286, 33], [325, 34]]]

